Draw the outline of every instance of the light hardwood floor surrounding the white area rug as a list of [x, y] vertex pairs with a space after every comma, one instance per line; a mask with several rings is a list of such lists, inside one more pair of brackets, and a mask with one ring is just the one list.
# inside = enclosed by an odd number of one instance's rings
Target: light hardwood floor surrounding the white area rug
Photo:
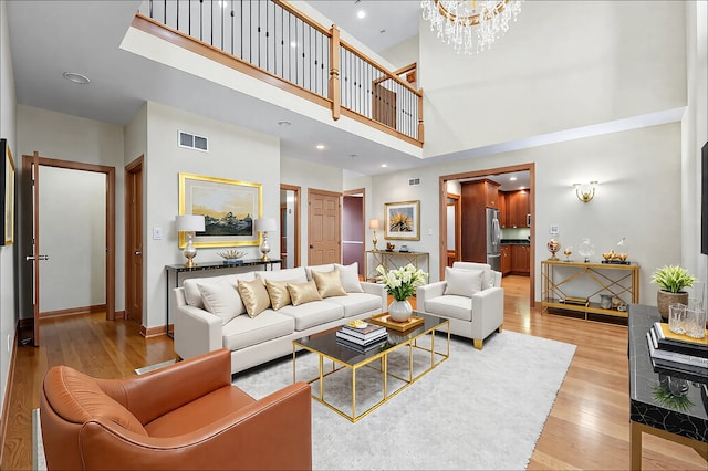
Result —
[[[529, 469], [628, 469], [626, 327], [542, 315], [529, 307], [528, 278], [507, 276], [502, 285], [504, 329], [577, 346]], [[106, 322], [103, 314], [42, 322], [42, 346], [18, 347], [8, 385], [11, 397], [3, 470], [31, 469], [30, 412], [39, 406], [39, 387], [50, 366], [66, 364], [93, 376], [117, 378], [175, 357], [170, 338], [145, 339], [138, 331], [133, 322]], [[706, 470], [706, 462], [693, 449], [645, 435], [643, 467]]]

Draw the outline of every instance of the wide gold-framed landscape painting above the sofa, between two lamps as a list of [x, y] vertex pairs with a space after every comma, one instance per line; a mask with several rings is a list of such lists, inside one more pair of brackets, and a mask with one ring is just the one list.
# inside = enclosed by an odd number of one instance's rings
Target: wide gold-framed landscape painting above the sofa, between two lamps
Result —
[[[179, 174], [179, 213], [205, 217], [205, 231], [195, 234], [195, 247], [259, 245], [254, 222], [261, 217], [261, 205], [260, 184]], [[179, 247], [186, 243], [180, 232]]]

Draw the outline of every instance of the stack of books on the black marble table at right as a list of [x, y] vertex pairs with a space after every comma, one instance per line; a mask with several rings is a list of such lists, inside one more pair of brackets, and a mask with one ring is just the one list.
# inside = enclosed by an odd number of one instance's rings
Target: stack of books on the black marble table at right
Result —
[[689, 379], [708, 378], [708, 336], [693, 338], [675, 334], [668, 324], [657, 322], [646, 333], [652, 366], [662, 373], [679, 373]]

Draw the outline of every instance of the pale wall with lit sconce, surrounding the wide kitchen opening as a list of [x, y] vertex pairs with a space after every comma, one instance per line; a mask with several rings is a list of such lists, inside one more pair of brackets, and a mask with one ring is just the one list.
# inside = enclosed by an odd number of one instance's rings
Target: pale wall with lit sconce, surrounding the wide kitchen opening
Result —
[[[430, 253], [430, 280], [439, 280], [438, 177], [534, 163], [535, 299], [540, 261], [549, 257], [548, 228], [559, 224], [563, 245], [577, 247], [590, 238], [596, 253], [614, 249], [626, 237], [632, 261], [642, 266], [641, 302], [656, 304], [650, 273], [681, 260], [680, 148], [676, 123], [381, 175], [373, 178], [373, 214], [382, 212], [385, 202], [419, 199], [421, 237], [408, 247]], [[421, 186], [408, 187], [414, 176], [421, 177]], [[601, 181], [595, 198], [582, 203], [572, 182], [594, 179]]]

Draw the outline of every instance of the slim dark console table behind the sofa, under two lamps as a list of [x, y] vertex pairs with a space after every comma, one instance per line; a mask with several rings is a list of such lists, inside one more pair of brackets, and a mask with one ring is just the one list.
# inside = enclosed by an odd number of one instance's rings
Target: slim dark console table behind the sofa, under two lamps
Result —
[[[167, 335], [173, 336], [173, 326], [169, 324], [169, 313], [173, 308], [171, 290], [174, 287], [181, 286], [181, 282], [188, 278], [198, 276], [217, 276], [220, 274], [228, 274], [226, 272], [239, 273], [243, 271], [252, 270], [274, 270], [275, 264], [281, 264], [282, 260], [271, 259], [269, 261], [262, 261], [261, 259], [248, 259], [242, 260], [240, 263], [225, 263], [225, 262], [204, 262], [198, 263], [196, 266], [189, 268], [184, 264], [165, 265], [167, 272]], [[240, 270], [246, 268], [247, 270]]]

